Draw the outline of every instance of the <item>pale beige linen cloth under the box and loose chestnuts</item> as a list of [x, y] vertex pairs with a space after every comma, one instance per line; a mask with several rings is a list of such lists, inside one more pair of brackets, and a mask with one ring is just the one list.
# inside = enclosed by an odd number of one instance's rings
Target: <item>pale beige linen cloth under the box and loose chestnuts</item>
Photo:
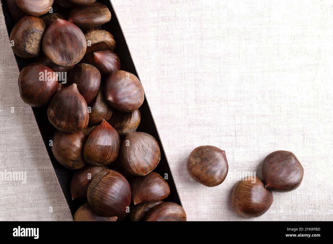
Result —
[[[275, 150], [304, 167], [255, 220], [333, 220], [333, 2], [113, 0], [188, 220], [246, 220], [230, 203], [241, 172]], [[0, 18], [0, 220], [71, 220]], [[11, 113], [11, 107], [15, 112]], [[229, 174], [208, 188], [186, 173], [197, 146], [226, 151]], [[50, 207], [53, 212], [50, 213]]]

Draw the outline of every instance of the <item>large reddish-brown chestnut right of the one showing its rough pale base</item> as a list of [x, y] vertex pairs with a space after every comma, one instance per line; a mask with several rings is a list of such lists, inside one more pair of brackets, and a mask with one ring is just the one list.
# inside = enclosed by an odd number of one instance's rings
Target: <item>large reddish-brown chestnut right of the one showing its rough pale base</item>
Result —
[[76, 64], [83, 58], [86, 50], [87, 41], [83, 32], [66, 20], [57, 19], [45, 31], [43, 51], [55, 64]]

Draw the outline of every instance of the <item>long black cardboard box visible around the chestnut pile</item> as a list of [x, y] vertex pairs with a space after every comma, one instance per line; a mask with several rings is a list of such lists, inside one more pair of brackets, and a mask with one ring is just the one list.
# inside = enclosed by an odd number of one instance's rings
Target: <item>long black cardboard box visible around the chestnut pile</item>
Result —
[[[8, 31], [8, 34], [10, 35], [12, 28], [16, 22], [8, 11], [7, 1], [6, 0], [0, 0], [0, 1], [2, 3], [2, 11], [3, 11], [4, 18], [5, 18], [7, 31]], [[139, 77], [137, 70], [134, 66], [130, 51], [128, 49], [123, 31], [118, 22], [117, 15], [111, 4], [111, 1], [110, 0], [99, 0], [98, 2], [101, 2], [104, 5], [106, 5], [111, 12], [111, 16], [112, 16], [111, 21], [104, 24], [102, 26], [102, 29], [109, 31], [116, 40], [116, 49], [114, 52], [120, 58], [121, 65], [122, 65], [121, 69], [131, 72]], [[62, 8], [62, 7], [59, 7], [57, 4], [53, 4], [53, 13], [64, 13], [64, 14], [68, 15], [69, 11], [70, 11], [69, 8]], [[9, 45], [9, 42], [8, 42], [8, 45]], [[66, 48], [66, 47], [64, 47], [64, 48]], [[42, 50], [41, 50], [41, 52], [42, 52]], [[20, 71], [26, 65], [28, 65], [29, 63], [32, 63], [34, 61], [34, 59], [29, 59], [29, 60], [23, 59], [16, 55], [15, 55], [15, 58], [16, 58], [17, 66]], [[16, 83], [13, 85], [17, 86]], [[17, 86], [17, 89], [18, 89], [18, 86]], [[58, 182], [59, 182], [61, 189], [63, 191], [63, 194], [66, 198], [68, 207], [70, 208], [71, 213], [74, 216], [74, 213], [76, 212], [76, 210], [85, 202], [85, 199], [72, 200], [72, 198], [71, 198], [70, 182], [71, 182], [72, 176], [75, 171], [67, 170], [66, 168], [64, 168], [59, 162], [57, 162], [57, 160], [53, 156], [51, 147], [49, 146], [49, 143], [50, 143], [49, 141], [52, 140], [52, 138], [53, 138], [55, 128], [52, 126], [52, 124], [48, 120], [47, 106], [42, 107], [42, 108], [32, 108], [32, 110], [34, 112], [36, 122], [39, 127], [39, 131], [42, 135], [42, 138], [43, 138], [45, 147], [47, 149], [47, 152], [49, 154], [50, 160], [52, 162], [54, 171], [58, 178]], [[172, 202], [175, 202], [175, 203], [181, 205], [181, 201], [180, 201], [180, 198], [179, 198], [179, 195], [177, 192], [177, 188], [174, 183], [174, 179], [172, 177], [170, 167], [169, 167], [169, 164], [166, 159], [166, 155], [165, 155], [162, 143], [161, 143], [161, 139], [160, 139], [159, 133], [158, 133], [156, 125], [155, 125], [155, 121], [153, 119], [151, 110], [149, 108], [149, 105], [148, 105], [148, 102], [146, 99], [146, 95], [145, 95], [145, 101], [144, 101], [143, 105], [140, 107], [140, 112], [141, 112], [141, 123], [140, 123], [137, 131], [146, 132], [146, 133], [149, 133], [152, 136], [154, 136], [156, 138], [156, 140], [158, 141], [160, 148], [161, 148], [161, 161], [160, 161], [159, 165], [156, 167], [156, 169], [154, 170], [154, 172], [159, 173], [162, 177], [164, 177], [165, 174], [168, 175], [168, 180], [166, 180], [166, 181], [170, 186], [170, 194], [164, 201], [172, 201]], [[40, 163], [44, 164], [46, 162], [40, 162]], [[111, 163], [110, 168], [112, 168], [112, 164], [113, 163]]]

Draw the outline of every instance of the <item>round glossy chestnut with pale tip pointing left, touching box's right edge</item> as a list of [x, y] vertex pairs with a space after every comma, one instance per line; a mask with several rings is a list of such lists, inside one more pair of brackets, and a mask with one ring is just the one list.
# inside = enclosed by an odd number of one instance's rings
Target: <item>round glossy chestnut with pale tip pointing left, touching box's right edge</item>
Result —
[[145, 93], [137, 76], [118, 70], [110, 74], [105, 81], [105, 97], [116, 110], [132, 112], [140, 108]]

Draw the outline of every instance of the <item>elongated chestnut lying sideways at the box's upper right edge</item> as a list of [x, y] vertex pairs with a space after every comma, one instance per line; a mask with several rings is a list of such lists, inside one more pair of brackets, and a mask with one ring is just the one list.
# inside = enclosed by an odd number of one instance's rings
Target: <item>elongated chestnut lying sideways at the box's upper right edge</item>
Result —
[[73, 8], [68, 21], [81, 29], [89, 29], [103, 25], [111, 20], [111, 13], [107, 6], [96, 2], [83, 7]]

